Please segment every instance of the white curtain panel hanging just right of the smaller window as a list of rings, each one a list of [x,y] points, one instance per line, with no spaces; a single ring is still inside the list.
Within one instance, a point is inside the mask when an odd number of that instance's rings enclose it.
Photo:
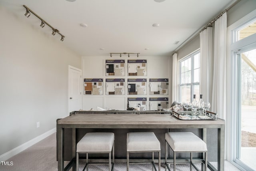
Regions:
[[[200,32],[200,94],[203,95],[203,100],[205,102],[210,102],[211,95],[212,47],[212,27],[208,27]]]

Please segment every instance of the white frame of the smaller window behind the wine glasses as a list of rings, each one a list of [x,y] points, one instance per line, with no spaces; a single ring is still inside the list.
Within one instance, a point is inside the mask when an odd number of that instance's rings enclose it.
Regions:
[[[187,86],[190,85],[190,101],[192,101],[193,99],[193,94],[194,94],[194,86],[200,84],[200,72],[199,72],[199,82],[194,82],[194,56],[196,56],[197,54],[199,54],[199,69],[200,69],[200,49],[197,49],[196,51],[192,52],[191,54],[185,56],[184,58],[179,60],[179,100],[181,101],[181,97],[182,97],[182,86]],[[182,62],[188,60],[189,58],[191,58],[191,79],[190,79],[190,83],[181,83],[181,78],[182,78]],[[198,68],[196,68],[198,69]],[[198,98],[198,97],[197,97]]]

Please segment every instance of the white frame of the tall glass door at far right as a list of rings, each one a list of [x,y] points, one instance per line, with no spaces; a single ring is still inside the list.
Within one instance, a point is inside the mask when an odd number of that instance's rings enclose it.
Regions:
[[[227,54],[226,54],[226,86],[230,87],[226,92],[226,160],[238,167],[240,170],[245,169],[245,165],[236,159],[237,152],[237,129],[238,129],[238,115],[239,112],[238,104],[239,99],[237,98],[238,93],[238,61],[237,54],[242,53],[243,50],[254,46],[256,40],[256,34],[248,36],[239,41],[236,40],[236,31],[240,26],[255,20],[256,10],[250,12],[234,24],[227,28]],[[244,167],[244,168],[243,168]]]

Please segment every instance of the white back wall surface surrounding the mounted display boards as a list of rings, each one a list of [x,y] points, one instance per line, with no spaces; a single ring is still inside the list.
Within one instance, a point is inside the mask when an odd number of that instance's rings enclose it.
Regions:
[[[105,76],[105,60],[125,60],[125,76]],[[127,76],[127,60],[147,60],[147,76]],[[169,85],[171,81],[170,57],[156,57],[156,56],[130,56],[122,55],[120,58],[118,55],[110,58],[110,56],[94,56],[94,57],[82,57],[82,74],[84,78],[103,78],[103,95],[83,95],[82,109],[89,110],[91,108],[96,109],[102,107],[104,109],[118,109],[126,110],[127,97],[147,97],[147,109],[149,110],[149,97],[171,97],[169,86],[169,95],[149,95],[149,78],[169,78]],[[125,95],[106,95],[105,92],[105,79],[106,78],[125,78]],[[147,95],[127,95],[127,78],[147,78]],[[171,103],[169,101],[169,103]]]

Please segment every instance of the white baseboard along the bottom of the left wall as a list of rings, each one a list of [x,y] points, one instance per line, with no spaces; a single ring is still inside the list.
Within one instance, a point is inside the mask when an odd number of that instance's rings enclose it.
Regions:
[[[0,155],[0,161],[6,161],[8,159],[10,159],[11,157],[13,157],[14,155],[20,153],[21,151],[27,149],[28,147],[34,145],[35,143],[38,143],[39,141],[41,141],[42,139],[52,135],[53,133],[56,132],[56,127],[54,129],[51,129],[50,131],[47,131],[45,133],[43,133],[42,135],[39,135],[37,137],[35,137],[34,139],[31,139],[30,141]]]

